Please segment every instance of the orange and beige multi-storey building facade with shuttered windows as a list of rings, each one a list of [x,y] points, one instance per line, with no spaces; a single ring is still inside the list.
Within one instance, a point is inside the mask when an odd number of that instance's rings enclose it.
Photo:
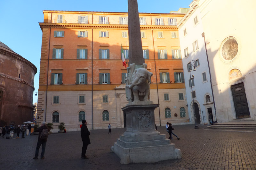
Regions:
[[[37,116],[69,131],[126,126],[121,110],[128,63],[128,13],[43,11]],[[184,14],[139,13],[143,57],[153,73],[150,99],[159,103],[156,125],[188,124],[177,23]],[[127,64],[128,66],[128,64]]]

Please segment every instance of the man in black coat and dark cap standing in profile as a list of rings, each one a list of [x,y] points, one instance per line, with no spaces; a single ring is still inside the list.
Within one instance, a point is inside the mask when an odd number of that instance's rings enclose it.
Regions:
[[[89,135],[91,134],[90,130],[87,128],[87,122],[86,120],[82,120],[82,127],[81,127],[81,137],[83,141],[83,147],[82,147],[82,159],[89,159],[87,156],[85,156],[87,146],[88,144],[91,144]]]

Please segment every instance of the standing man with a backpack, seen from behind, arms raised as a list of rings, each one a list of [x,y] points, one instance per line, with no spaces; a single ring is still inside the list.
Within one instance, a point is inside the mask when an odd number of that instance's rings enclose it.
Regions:
[[[38,159],[39,148],[41,145],[42,145],[41,159],[44,159],[45,146],[48,138],[48,132],[50,131],[50,129],[47,128],[46,124],[47,124],[46,122],[43,122],[42,125],[35,131],[35,132],[39,132],[39,135],[38,135],[38,141],[36,144],[36,154],[33,159]]]

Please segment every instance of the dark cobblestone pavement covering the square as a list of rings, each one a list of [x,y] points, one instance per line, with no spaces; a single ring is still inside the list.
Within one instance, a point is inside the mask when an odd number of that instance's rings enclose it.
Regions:
[[[80,131],[49,135],[45,159],[32,159],[35,155],[37,135],[19,139],[0,137],[0,170],[7,169],[132,169],[132,170],[235,170],[256,169],[256,133],[204,130],[207,125],[173,126],[175,137],[171,142],[182,152],[182,159],[164,160],[157,163],[120,164],[115,153],[110,152],[120,134],[126,129],[91,130],[91,144],[81,159],[82,140]],[[157,127],[166,134],[165,126]],[[20,135],[21,136],[21,135]],[[39,155],[41,154],[41,148]]]

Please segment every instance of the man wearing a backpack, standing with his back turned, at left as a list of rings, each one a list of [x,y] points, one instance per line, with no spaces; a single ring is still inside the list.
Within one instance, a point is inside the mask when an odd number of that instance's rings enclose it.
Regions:
[[[33,159],[38,159],[39,148],[41,145],[42,145],[41,159],[44,159],[44,151],[45,151],[45,146],[46,146],[48,137],[46,139],[41,139],[41,133],[42,133],[43,129],[47,129],[48,132],[50,131],[50,129],[47,128],[46,124],[47,124],[46,122],[43,122],[42,125],[36,131],[34,131],[34,132],[39,132],[39,135],[38,135],[38,141],[36,144],[36,154]]]

